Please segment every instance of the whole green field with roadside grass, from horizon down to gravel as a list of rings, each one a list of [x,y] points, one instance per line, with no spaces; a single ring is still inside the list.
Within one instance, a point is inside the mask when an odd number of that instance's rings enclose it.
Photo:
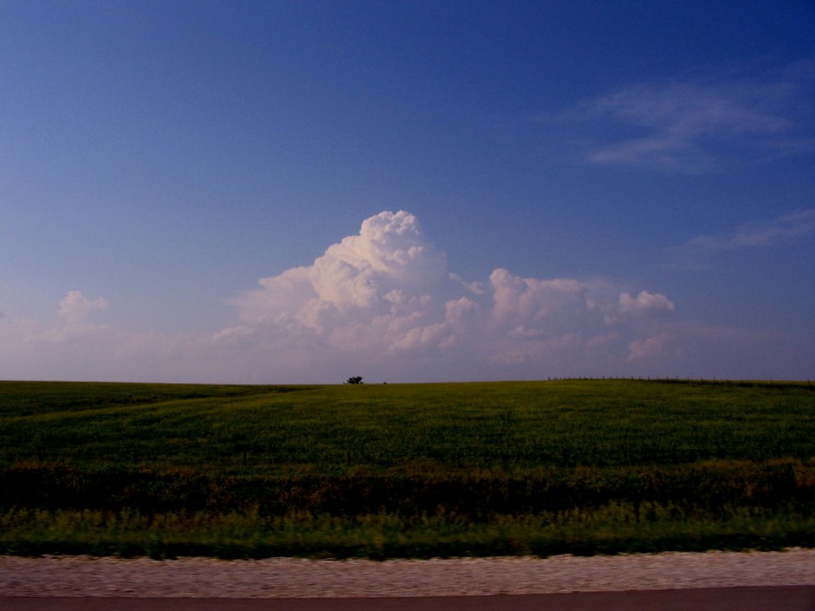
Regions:
[[[0,554],[815,546],[815,386],[0,382]]]

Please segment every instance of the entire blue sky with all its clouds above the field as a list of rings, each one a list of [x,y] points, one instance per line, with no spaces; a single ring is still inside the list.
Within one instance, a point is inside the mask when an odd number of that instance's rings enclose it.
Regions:
[[[0,378],[815,378],[813,28],[0,3]]]

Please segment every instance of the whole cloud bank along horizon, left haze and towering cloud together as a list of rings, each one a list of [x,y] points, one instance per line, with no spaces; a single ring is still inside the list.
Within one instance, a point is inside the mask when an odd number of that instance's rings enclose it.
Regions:
[[[689,374],[689,352],[702,346],[715,358],[715,344],[724,341],[736,354],[745,341],[762,340],[682,323],[670,297],[611,280],[541,280],[504,269],[464,280],[406,211],[366,219],[359,235],[329,246],[311,265],[260,280],[232,304],[237,320],[219,331],[131,332],[92,323],[108,301],[72,290],[55,323],[0,321],[0,377],[338,383],[357,374],[371,382],[659,376]]]

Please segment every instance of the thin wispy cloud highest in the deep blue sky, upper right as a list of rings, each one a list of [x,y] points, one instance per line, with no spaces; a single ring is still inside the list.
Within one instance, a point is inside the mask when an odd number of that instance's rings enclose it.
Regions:
[[[729,159],[815,151],[798,119],[813,104],[811,70],[751,79],[642,82],[583,102],[568,121],[599,133],[581,159],[594,165],[674,173],[707,172]]]

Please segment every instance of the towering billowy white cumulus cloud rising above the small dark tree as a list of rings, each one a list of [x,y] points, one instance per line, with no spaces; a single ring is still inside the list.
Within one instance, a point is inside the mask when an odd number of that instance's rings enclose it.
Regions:
[[[330,246],[308,267],[283,271],[233,300],[239,323],[216,336],[234,348],[287,350],[300,362],[359,363],[386,371],[428,368],[427,378],[487,377],[490,367],[629,360],[647,342],[658,357],[670,341],[656,329],[672,301],[637,297],[607,281],[521,278],[498,269],[465,282],[429,242],[415,216],[384,211],[360,234]],[[304,357],[308,355],[308,357]],[[442,369],[439,369],[441,367]],[[507,368],[502,375],[512,375]],[[416,374],[414,374],[415,376]]]

